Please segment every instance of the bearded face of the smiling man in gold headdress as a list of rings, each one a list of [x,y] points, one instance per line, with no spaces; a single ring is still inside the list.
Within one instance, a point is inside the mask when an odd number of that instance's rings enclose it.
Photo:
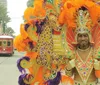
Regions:
[[[89,46],[89,36],[87,33],[79,33],[77,35],[77,42],[79,47],[86,48]]]

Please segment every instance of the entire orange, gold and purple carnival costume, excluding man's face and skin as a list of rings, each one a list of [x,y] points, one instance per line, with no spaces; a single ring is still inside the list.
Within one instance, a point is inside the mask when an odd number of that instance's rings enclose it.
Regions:
[[[33,7],[24,12],[24,20],[20,35],[14,40],[17,50],[26,52],[17,61],[21,72],[19,85],[95,85],[95,82],[88,82],[88,78],[95,69],[100,79],[98,3],[92,0],[34,0]],[[92,45],[86,62],[75,50],[77,35],[81,32],[89,35]],[[77,69],[82,82],[74,81],[72,70],[67,69],[68,62]]]

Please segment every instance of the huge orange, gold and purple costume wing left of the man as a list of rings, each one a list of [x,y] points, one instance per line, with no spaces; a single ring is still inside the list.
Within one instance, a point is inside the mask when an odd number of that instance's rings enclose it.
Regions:
[[[24,11],[20,35],[14,40],[26,54],[17,61],[19,85],[58,85],[67,64],[66,27],[58,23],[61,0],[33,0]],[[69,58],[72,52],[68,51]],[[27,72],[28,70],[28,72]]]

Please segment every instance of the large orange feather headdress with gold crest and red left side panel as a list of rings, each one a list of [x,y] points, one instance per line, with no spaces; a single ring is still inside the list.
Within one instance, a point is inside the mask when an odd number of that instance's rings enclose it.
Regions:
[[[92,33],[100,16],[100,6],[90,0],[68,0],[59,16],[60,24],[67,24],[66,40],[73,49],[72,42],[78,32]],[[69,16],[70,15],[70,16]],[[94,28],[95,29],[95,28]],[[74,31],[73,31],[74,30]]]

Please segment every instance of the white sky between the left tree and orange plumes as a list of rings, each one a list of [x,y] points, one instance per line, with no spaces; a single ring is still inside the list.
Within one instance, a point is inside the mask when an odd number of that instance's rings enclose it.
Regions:
[[[20,34],[20,24],[23,23],[22,16],[27,8],[27,1],[7,0],[8,16],[11,18],[7,26],[15,31],[15,35]]]

